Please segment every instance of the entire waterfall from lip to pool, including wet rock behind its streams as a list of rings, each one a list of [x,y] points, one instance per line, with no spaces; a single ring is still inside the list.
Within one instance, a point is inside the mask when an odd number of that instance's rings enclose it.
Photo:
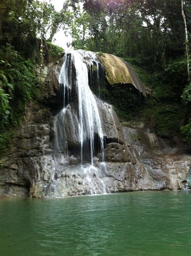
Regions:
[[[98,107],[98,104],[106,103],[97,99],[89,87],[92,78],[94,81],[97,79],[96,84],[100,87],[103,70],[93,52],[65,52],[59,75],[62,109],[54,119],[54,168],[50,181],[50,188],[56,196],[63,197],[67,190],[71,193],[73,189],[81,194],[111,191],[104,163],[105,124]],[[106,109],[109,113],[108,107]],[[74,178],[78,180],[77,183],[73,181]]]

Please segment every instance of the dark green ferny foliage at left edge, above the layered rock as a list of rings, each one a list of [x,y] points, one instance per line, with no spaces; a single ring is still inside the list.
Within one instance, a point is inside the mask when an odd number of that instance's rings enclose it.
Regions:
[[[9,44],[0,50],[0,154],[5,153],[9,130],[19,124],[25,105],[37,99],[39,83],[35,63],[25,60]],[[11,84],[10,84],[11,83]],[[13,90],[14,89],[14,90]]]

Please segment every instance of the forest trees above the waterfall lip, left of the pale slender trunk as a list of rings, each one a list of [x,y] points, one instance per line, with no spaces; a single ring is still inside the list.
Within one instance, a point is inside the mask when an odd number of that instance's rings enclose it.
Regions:
[[[82,2],[82,1],[80,1]],[[73,46],[120,57],[139,58],[156,70],[184,53],[184,23],[181,1],[172,0],[85,0],[83,12],[75,6],[71,26]],[[79,3],[79,1],[78,1]],[[189,1],[184,1],[189,23]]]

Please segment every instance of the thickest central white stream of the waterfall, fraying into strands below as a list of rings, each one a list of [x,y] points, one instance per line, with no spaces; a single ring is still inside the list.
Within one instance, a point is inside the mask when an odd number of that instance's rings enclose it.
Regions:
[[[79,52],[73,52],[72,61],[76,69],[76,86],[79,99],[79,138],[81,145],[81,163],[83,162],[83,141],[88,137],[90,141],[91,165],[93,165],[94,134],[98,134],[104,160],[104,134],[102,123],[96,104],[96,99],[88,84],[87,66],[83,63]]]

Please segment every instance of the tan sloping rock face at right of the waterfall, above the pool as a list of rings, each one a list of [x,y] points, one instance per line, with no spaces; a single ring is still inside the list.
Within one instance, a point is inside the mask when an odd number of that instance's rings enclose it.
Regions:
[[[155,134],[141,129],[123,127],[129,150],[137,158],[139,189],[186,189],[191,155],[187,149],[170,147]],[[140,172],[141,170],[141,172]]]

